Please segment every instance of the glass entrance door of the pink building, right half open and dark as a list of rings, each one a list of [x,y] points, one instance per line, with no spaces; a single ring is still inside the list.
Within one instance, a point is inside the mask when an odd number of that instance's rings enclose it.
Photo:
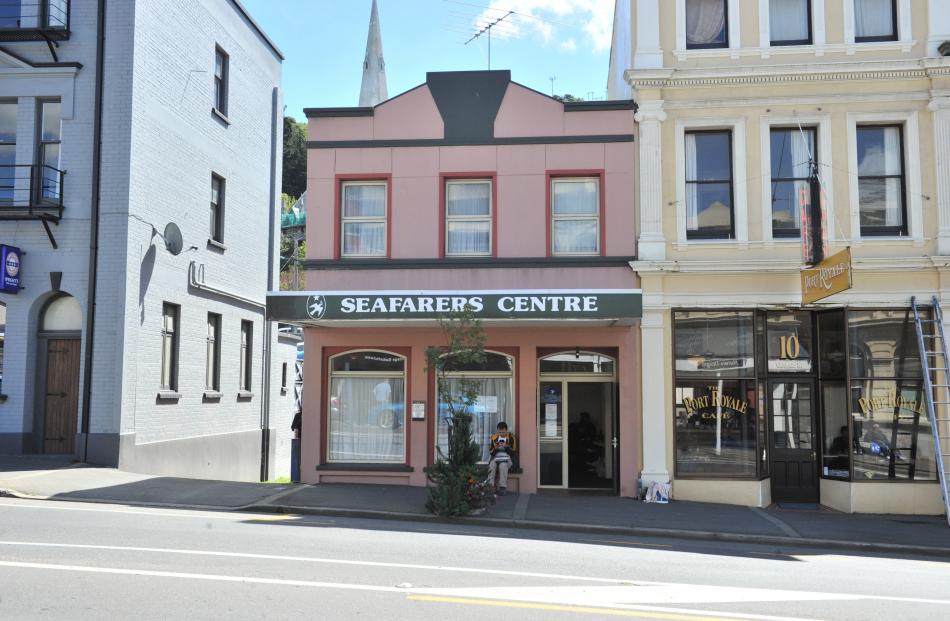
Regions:
[[[544,378],[538,401],[539,487],[616,491],[616,383]]]

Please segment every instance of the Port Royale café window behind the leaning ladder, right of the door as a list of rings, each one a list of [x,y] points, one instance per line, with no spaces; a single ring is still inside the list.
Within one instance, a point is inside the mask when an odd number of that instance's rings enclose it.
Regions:
[[[934,480],[936,456],[912,313],[853,311],[848,329],[854,480]]]

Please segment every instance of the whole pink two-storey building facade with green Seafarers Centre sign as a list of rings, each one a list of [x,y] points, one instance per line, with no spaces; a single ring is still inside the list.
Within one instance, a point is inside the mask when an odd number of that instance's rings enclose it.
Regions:
[[[475,440],[509,489],[634,495],[642,467],[632,101],[562,103],[507,71],[430,73],[374,108],[308,109],[301,478],[425,485],[447,442],[438,317],[488,336]]]

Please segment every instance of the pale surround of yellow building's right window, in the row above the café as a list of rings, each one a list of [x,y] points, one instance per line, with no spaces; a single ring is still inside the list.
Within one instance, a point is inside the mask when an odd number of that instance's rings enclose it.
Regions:
[[[875,123],[899,123],[904,126],[904,175],[907,180],[907,236],[906,237],[861,237],[861,211],[858,195],[858,139],[857,126]],[[848,113],[848,195],[851,209],[851,243],[913,242],[924,243],[923,204],[920,180],[920,126],[916,110],[890,112]]]

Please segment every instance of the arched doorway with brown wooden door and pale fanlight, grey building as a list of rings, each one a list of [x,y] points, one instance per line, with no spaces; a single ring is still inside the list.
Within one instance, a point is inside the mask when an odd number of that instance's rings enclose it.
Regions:
[[[76,449],[82,308],[61,294],[40,313],[36,451],[71,454]]]

